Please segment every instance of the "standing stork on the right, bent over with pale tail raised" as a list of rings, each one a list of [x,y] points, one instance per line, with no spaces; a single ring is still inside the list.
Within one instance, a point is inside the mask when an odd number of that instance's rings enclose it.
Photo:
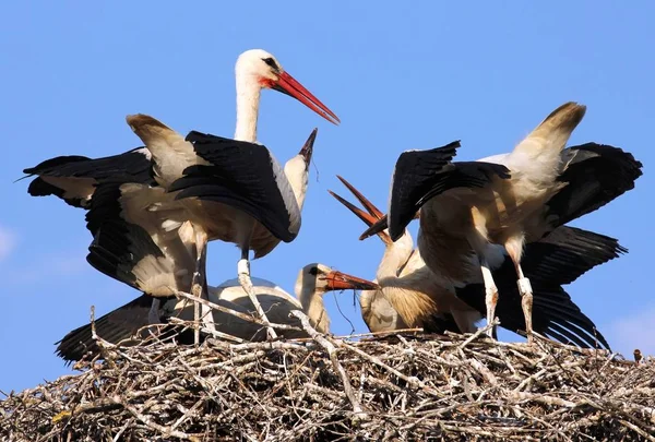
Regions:
[[[528,339],[532,289],[521,266],[525,242],[607,204],[634,187],[641,163],[620,148],[588,143],[564,150],[585,107],[567,103],[546,118],[511,154],[477,162],[504,165],[511,179],[479,189],[453,189],[452,176],[472,163],[452,163],[456,145],[401,155],[393,175],[389,208],[392,239],[420,210],[419,250],[436,273],[462,280],[480,265],[487,320],[493,319],[498,289],[490,268],[492,243],[502,244],[515,266]],[[474,162],[476,163],[476,162]],[[385,228],[386,218],[362,238]]]

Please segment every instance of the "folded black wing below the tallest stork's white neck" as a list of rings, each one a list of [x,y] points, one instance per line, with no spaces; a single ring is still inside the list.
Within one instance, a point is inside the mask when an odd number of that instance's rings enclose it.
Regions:
[[[176,199],[198,198],[230,205],[260,222],[277,239],[289,242],[296,238],[298,231],[294,231],[279,187],[286,176],[281,168],[276,174],[274,158],[265,146],[195,131],[187,135],[187,141],[212,165],[187,168],[184,177],[169,188],[179,191]],[[293,205],[299,214],[295,200]]]

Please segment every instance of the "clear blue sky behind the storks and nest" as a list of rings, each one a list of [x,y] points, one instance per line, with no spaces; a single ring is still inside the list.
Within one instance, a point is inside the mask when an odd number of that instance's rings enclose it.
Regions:
[[[623,147],[643,162],[644,176],[574,223],[619,238],[630,252],[567,289],[615,350],[655,354],[654,17],[646,1],[2,3],[0,390],[70,372],[53,344],[88,322],[92,304],[99,316],[139,295],[86,263],[84,213],[31,198],[29,181],[13,182],[22,169],[141,145],[124,123],[129,114],[151,114],[181,133],[231,136],[234,63],[251,48],[275,55],[342,120],[332,126],[263,93],[259,140],[279,160],[314,127],[319,134],[300,235],[254,261],[253,276],[290,291],[305,264],[321,262],[373,278],[382,242],[358,241],[364,224],[326,192],[350,198],[336,174],[384,208],[401,152],[453,140],[463,143],[458,159],[509,152],[576,100],[587,112],[570,144]],[[211,244],[210,283],[235,277],[238,258],[231,244]],[[366,331],[352,291],[326,301],[334,333]]]

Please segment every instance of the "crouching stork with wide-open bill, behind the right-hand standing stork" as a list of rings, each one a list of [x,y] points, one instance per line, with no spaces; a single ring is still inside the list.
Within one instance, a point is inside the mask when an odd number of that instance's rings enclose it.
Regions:
[[[340,177],[355,194],[368,213],[343,198],[333,195],[355,215],[371,226],[382,214],[352,184]],[[417,249],[412,250],[410,234],[405,230],[391,241],[386,230],[378,232],[386,244],[379,270],[388,267],[382,277],[378,274],[380,289],[362,291],[360,303],[362,316],[371,331],[389,331],[404,327],[422,327],[427,332],[444,330],[466,333],[475,330],[475,323],[486,314],[484,285],[480,271],[468,275],[465,282],[453,285],[448,278],[428,270]],[[394,246],[400,246],[394,251]],[[521,321],[521,296],[514,284],[515,273],[511,259],[502,247],[495,246],[499,264],[492,274],[502,288],[498,318],[501,326],[517,333],[525,328]],[[570,284],[588,270],[624,252],[618,241],[591,231],[559,227],[547,238],[526,246],[525,272],[535,280],[535,331],[564,343],[580,346],[608,347],[594,323],[580,311],[561,285]],[[400,252],[400,253],[398,253]],[[400,256],[394,258],[393,254]],[[406,320],[404,320],[404,318]]]

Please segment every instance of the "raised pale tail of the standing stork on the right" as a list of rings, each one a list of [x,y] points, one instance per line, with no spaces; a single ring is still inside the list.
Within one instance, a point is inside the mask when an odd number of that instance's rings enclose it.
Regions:
[[[586,106],[569,101],[555,109],[516,147],[514,153],[537,156],[543,151],[561,152],[584,118]]]

